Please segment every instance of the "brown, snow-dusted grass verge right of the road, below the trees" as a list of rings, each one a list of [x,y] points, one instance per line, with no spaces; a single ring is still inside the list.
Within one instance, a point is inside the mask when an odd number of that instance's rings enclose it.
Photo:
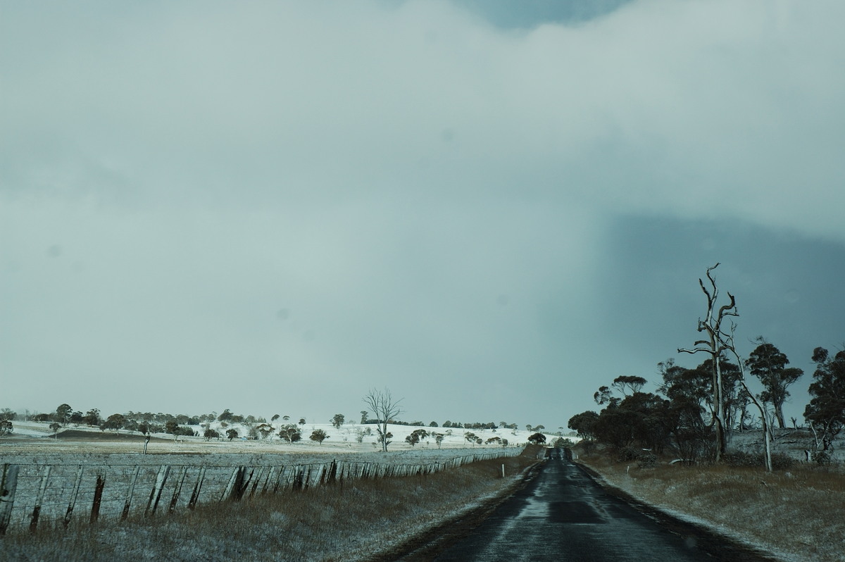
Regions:
[[[610,485],[676,516],[701,522],[781,559],[845,560],[845,472],[795,463],[766,473],[724,465],[636,467],[607,453],[579,462]]]

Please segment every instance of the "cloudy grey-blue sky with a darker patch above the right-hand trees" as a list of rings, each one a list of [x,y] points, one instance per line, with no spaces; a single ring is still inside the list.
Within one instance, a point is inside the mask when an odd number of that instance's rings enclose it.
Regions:
[[[0,2],[0,407],[566,426],[845,342],[845,3]]]

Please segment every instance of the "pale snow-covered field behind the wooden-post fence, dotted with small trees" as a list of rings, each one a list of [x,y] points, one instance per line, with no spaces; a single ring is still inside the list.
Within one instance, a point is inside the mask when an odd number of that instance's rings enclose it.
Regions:
[[[212,428],[215,426],[223,429],[220,424],[212,423]],[[247,426],[233,424],[227,428],[248,433]],[[293,444],[278,436],[205,440],[195,436],[174,439],[172,435],[155,434],[144,455],[144,437],[137,432],[102,432],[99,428],[71,426],[60,429],[55,436],[48,423],[15,422],[14,434],[0,439],[0,463],[16,465],[19,470],[12,523],[26,525],[27,517],[35,509],[35,497],[47,467],[50,472],[41,510],[44,520],[60,519],[73,501],[77,501],[83,511],[90,512],[92,501],[95,501],[95,487],[100,480],[105,481],[101,513],[113,518],[123,510],[127,499],[134,513],[144,510],[145,506],[149,509],[151,490],[164,470],[169,478],[161,493],[161,497],[166,498],[162,502],[172,501],[172,505],[181,509],[188,505],[194,487],[200,490],[199,503],[220,501],[227,485],[231,485],[237,467],[248,467],[254,493],[256,489],[295,487],[297,479],[300,482],[304,479],[306,486],[309,483],[317,485],[330,471],[331,463],[339,477],[354,480],[368,473],[383,473],[385,467],[400,467],[393,470],[402,474],[421,469],[439,470],[472,456],[516,456],[530,435],[527,431],[510,429],[426,428],[444,434],[440,446],[431,437],[410,445],[405,441],[406,435],[420,427],[390,425],[394,442],[384,453],[376,442],[372,425],[350,424],[335,428],[330,424],[306,424],[302,429],[303,440]],[[308,439],[316,429],[330,435],[322,445]],[[482,441],[500,436],[510,439],[506,447],[492,442],[479,445],[466,439],[470,434]],[[554,438],[549,436],[548,439]],[[77,479],[79,497],[73,492]]]

